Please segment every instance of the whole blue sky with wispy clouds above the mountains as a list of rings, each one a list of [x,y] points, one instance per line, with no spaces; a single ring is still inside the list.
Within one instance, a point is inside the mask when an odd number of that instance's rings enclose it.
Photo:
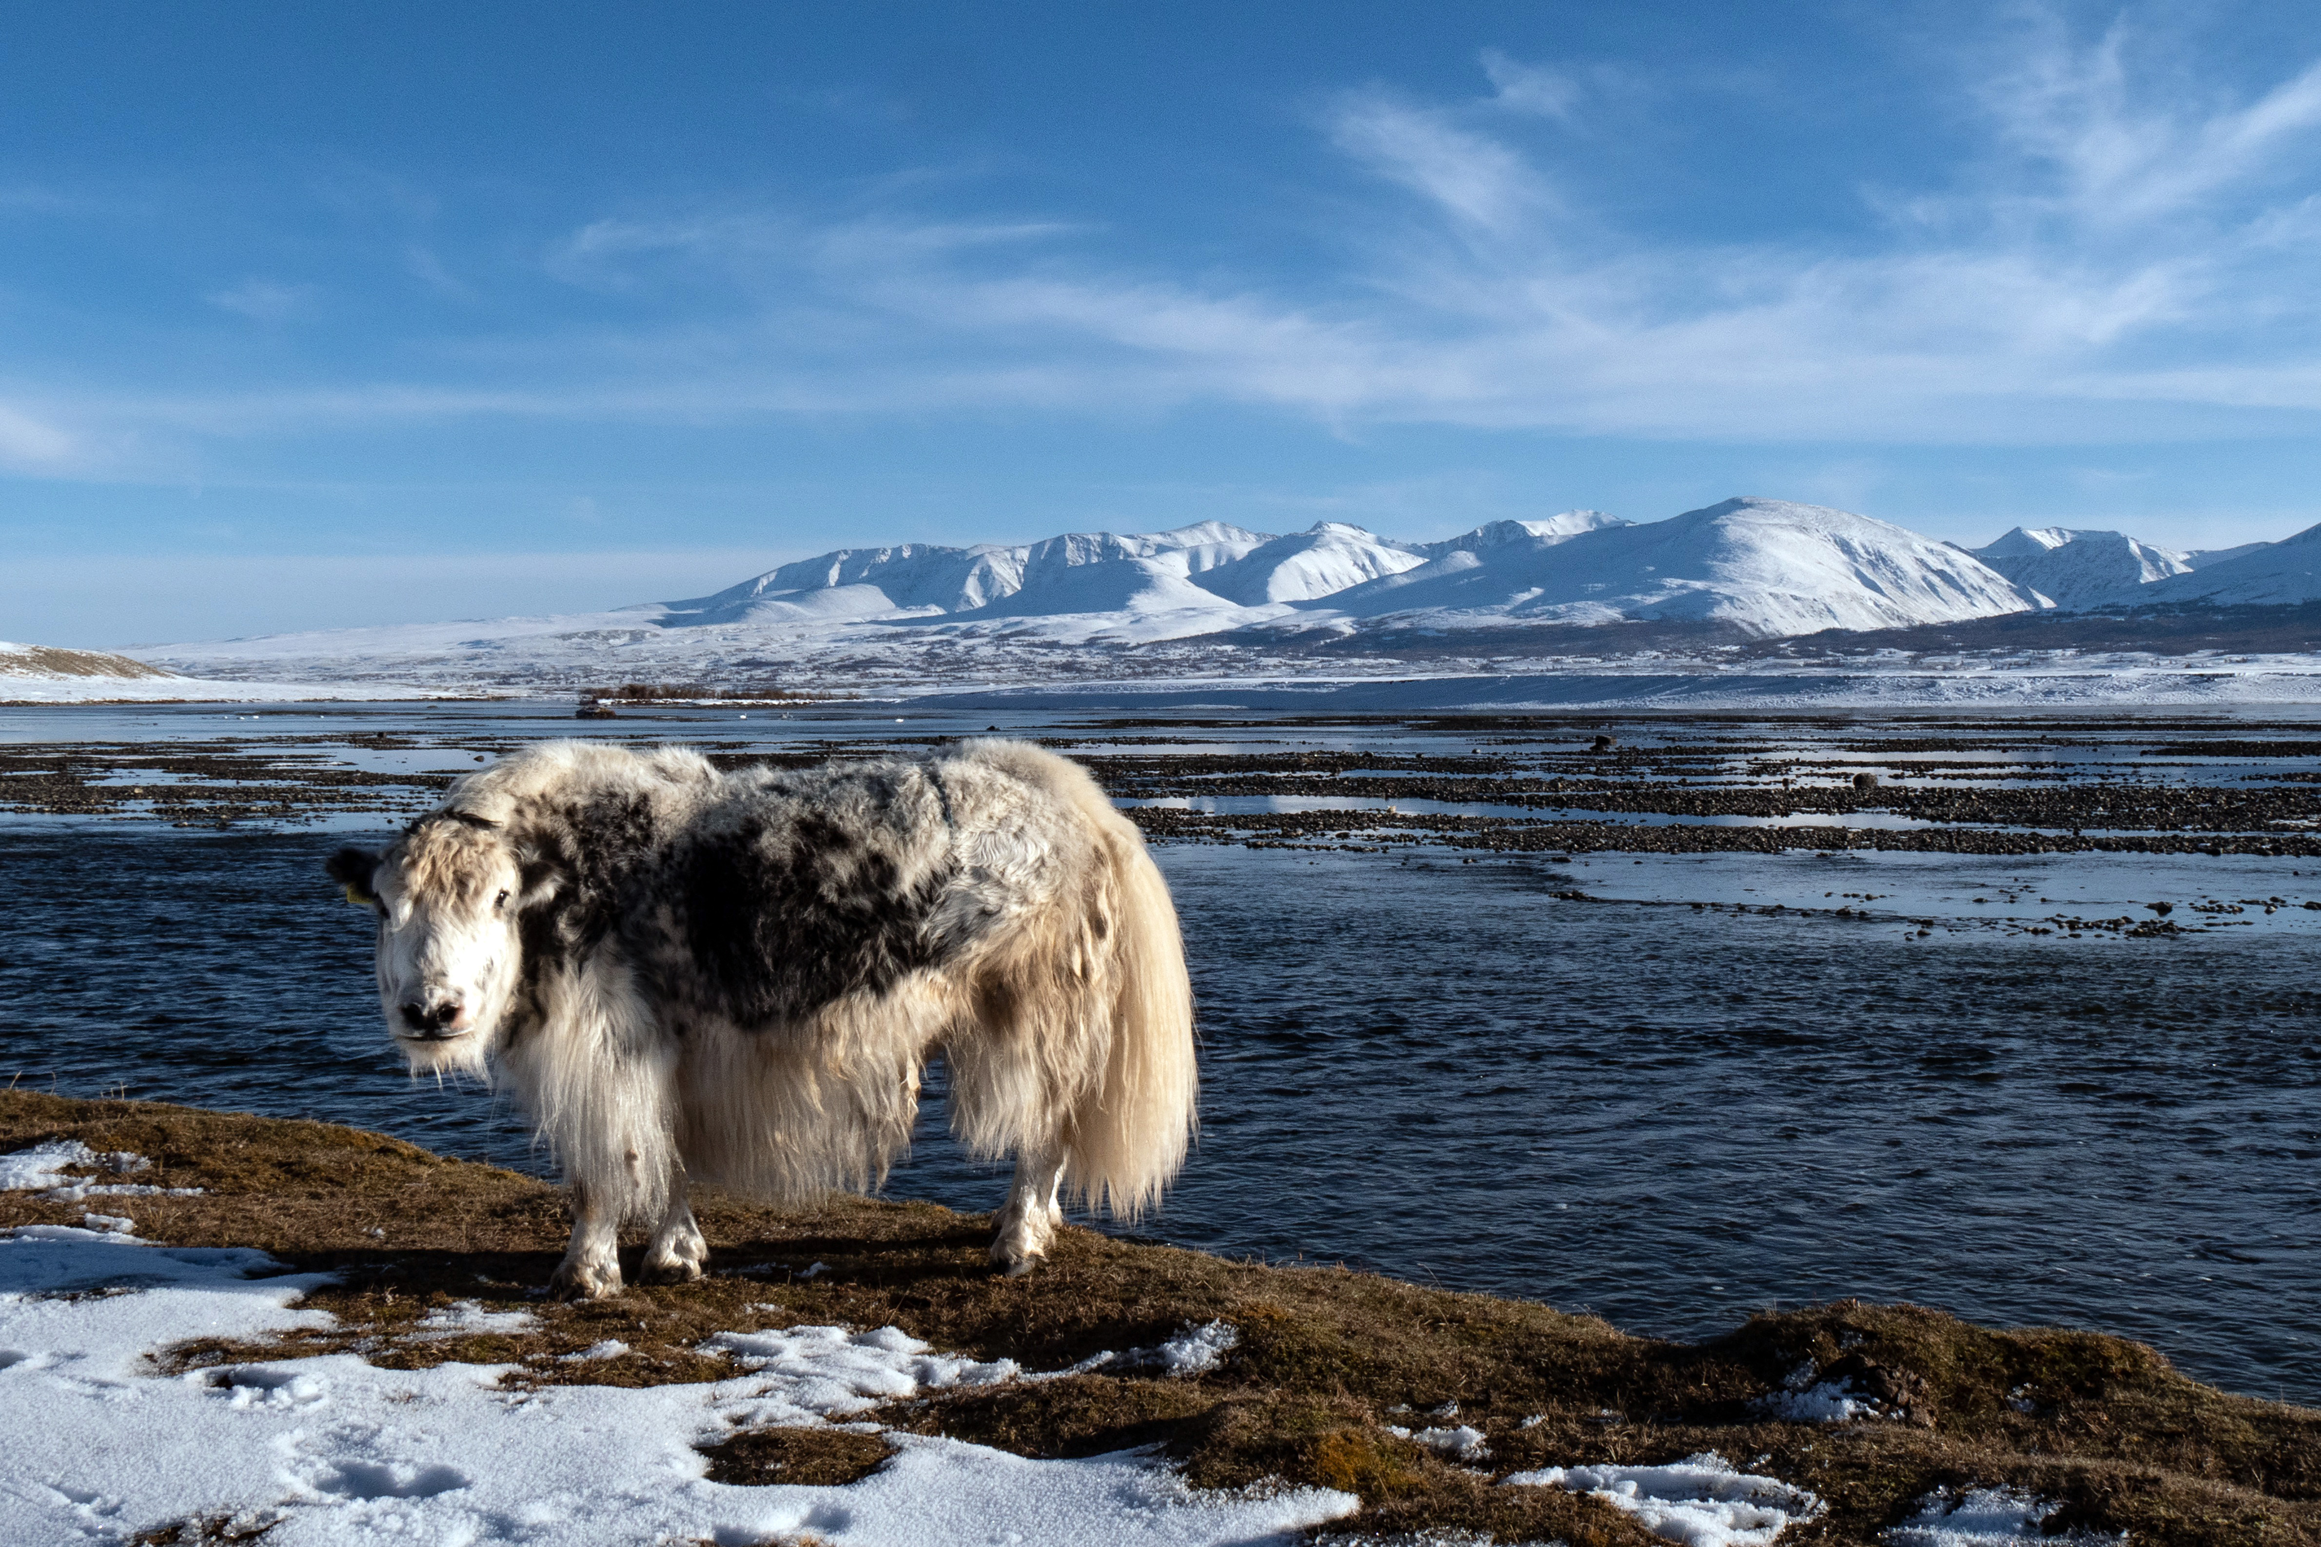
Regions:
[[[16,7],[0,635],[1727,494],[2321,520],[2309,5]]]

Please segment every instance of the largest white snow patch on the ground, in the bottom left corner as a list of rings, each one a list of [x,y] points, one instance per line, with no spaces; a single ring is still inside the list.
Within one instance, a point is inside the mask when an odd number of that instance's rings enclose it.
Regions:
[[[19,1174],[70,1164],[9,1160]],[[297,1306],[327,1278],[279,1266],[65,1225],[0,1234],[0,1540],[125,1542],[223,1517],[274,1521],[269,1547],[798,1533],[833,1547],[1223,1547],[1358,1508],[1325,1489],[1198,1496],[1142,1454],[1026,1461],[919,1436],[887,1436],[889,1464],[845,1487],[703,1477],[694,1447],[736,1429],[843,1419],[1014,1368],[935,1354],[896,1329],[724,1334],[710,1343],[754,1368],[715,1385],[527,1392],[501,1387],[511,1366],[383,1371],[357,1354],[153,1373],[151,1354],[188,1338],[330,1327]]]

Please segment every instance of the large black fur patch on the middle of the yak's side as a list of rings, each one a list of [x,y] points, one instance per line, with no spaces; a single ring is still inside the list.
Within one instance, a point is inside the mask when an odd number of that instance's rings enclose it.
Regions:
[[[678,928],[708,1009],[745,1027],[882,993],[938,963],[926,918],[954,865],[924,779],[863,770],[801,786],[752,793],[754,809],[687,835],[673,863]],[[905,865],[926,842],[942,842],[945,858],[910,884]]]

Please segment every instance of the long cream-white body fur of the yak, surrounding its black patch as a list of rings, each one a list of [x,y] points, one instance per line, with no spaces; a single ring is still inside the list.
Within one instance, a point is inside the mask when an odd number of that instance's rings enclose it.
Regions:
[[[938,1048],[952,1062],[952,1127],[977,1155],[1061,1160],[1070,1197],[1123,1218],[1151,1208],[1184,1164],[1193,990],[1177,909],[1135,823],[1079,765],[1026,742],[882,768],[921,791],[910,842],[959,847],[949,912],[928,925],[942,932],[940,965],[778,1025],[696,1016],[673,1027],[606,944],[562,963],[541,983],[538,1021],[492,1051],[566,1174],[615,1218],[657,1218],[687,1181],[782,1204],[875,1188],[910,1143],[919,1072]],[[462,779],[453,805],[476,830],[453,837],[483,849],[501,823],[576,791],[659,800],[673,821],[810,800],[773,779],[678,751],[548,745]]]

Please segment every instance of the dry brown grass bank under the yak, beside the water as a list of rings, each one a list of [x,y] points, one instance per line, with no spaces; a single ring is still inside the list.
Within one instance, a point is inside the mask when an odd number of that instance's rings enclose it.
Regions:
[[[91,1204],[132,1215],[149,1239],[255,1245],[341,1273],[311,1299],[337,1315],[334,1329],[265,1350],[188,1345],[172,1354],[181,1368],[353,1348],[402,1368],[513,1364],[511,1382],[657,1385],[729,1375],[726,1361],[696,1352],[713,1331],[805,1322],[896,1324],[938,1348],[1061,1368],[1223,1317],[1242,1345],[1200,1378],[1072,1375],[891,1403],[880,1419],[1033,1457],[1163,1445],[1200,1487],[1286,1477],[1360,1494],[1362,1512],[1325,1533],[1465,1528],[1634,1547],[1648,1538],[1604,1505],[1495,1480],[1718,1450],[1829,1501],[1822,1519],[1785,1538],[1796,1542],[1873,1542],[1938,1484],[2029,1487],[2063,1501],[2073,1524],[2138,1542],[2321,1542],[2321,1412],[2203,1387],[2149,1348],[2098,1334],[1991,1331],[1938,1310],[1841,1301],[1759,1315],[1708,1343],[1662,1343],[1527,1301],[1082,1229],[1063,1234],[1040,1273],[1010,1280],[986,1266],[986,1220],[866,1199],[775,1213],[708,1197],[710,1278],[555,1306],[529,1294],[566,1232],[562,1197],[538,1181],[320,1123],[0,1092],[0,1150],[51,1136],[142,1153],[156,1169],[139,1181],[207,1190]],[[0,1194],[0,1225],[70,1225],[81,1208],[12,1192]],[[796,1278],[815,1262],[826,1271]],[[536,1310],[541,1327],[408,1336],[455,1299]],[[606,1338],[631,1352],[557,1361]],[[1752,1417],[1750,1399],[1801,1359],[1887,1394],[1908,1417]],[[1458,1422],[1485,1431],[1485,1464],[1444,1461],[1388,1433],[1425,1426],[1413,1415],[1453,1401]],[[713,1466],[733,1480],[843,1480],[882,1450],[843,1431],[761,1431],[720,1445]]]

